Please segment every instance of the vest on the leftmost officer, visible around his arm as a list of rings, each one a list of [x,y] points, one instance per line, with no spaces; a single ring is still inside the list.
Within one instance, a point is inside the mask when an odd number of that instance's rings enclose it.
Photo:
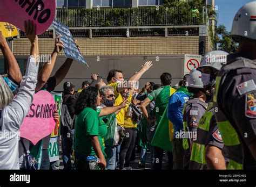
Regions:
[[[187,103],[185,103],[183,107],[183,116],[185,116],[185,112],[188,110],[191,110],[192,107],[199,107],[199,105],[203,106],[205,109],[207,109],[207,103],[201,102],[198,99],[190,99]],[[188,107],[188,109],[187,109]],[[183,120],[183,131],[186,132],[187,127],[187,121]],[[186,150],[189,148],[188,140],[186,138],[183,139],[183,148]]]

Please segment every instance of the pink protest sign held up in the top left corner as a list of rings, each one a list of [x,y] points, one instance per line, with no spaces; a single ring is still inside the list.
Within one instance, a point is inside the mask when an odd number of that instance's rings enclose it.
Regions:
[[[11,23],[24,31],[24,21],[30,19],[37,25],[36,34],[42,34],[51,26],[55,10],[55,0],[1,0],[0,21]]]

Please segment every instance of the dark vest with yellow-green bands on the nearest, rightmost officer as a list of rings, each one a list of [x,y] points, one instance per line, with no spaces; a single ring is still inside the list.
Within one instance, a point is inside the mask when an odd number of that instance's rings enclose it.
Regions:
[[[236,61],[227,64],[219,71],[219,74],[216,77],[216,92],[213,97],[215,106],[218,107],[217,99],[219,87],[223,87],[222,83],[224,83],[227,74],[231,70],[240,68],[256,69],[256,64],[254,63],[254,61],[244,59],[242,63],[241,61]],[[228,155],[226,156],[228,157],[228,159],[230,159],[227,169],[243,169],[244,149],[242,147],[243,145],[241,144],[238,132],[231,125],[230,121],[227,120],[227,117],[219,107],[218,112],[216,112],[216,117],[217,125],[223,138],[225,149],[227,150],[228,153]]]

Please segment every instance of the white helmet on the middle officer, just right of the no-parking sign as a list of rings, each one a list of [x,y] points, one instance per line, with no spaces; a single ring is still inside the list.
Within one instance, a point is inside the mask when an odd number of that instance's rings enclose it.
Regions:
[[[207,53],[200,62],[200,70],[202,67],[211,67],[220,70],[221,66],[227,62],[228,53],[225,51],[212,51]]]

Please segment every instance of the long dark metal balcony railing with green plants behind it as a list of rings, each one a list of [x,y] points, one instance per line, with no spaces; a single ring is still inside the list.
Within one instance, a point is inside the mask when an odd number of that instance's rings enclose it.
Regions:
[[[189,8],[144,7],[144,8],[101,8],[57,9],[57,20],[69,27],[100,26],[158,26],[158,25],[204,25],[203,8],[193,18]]]

